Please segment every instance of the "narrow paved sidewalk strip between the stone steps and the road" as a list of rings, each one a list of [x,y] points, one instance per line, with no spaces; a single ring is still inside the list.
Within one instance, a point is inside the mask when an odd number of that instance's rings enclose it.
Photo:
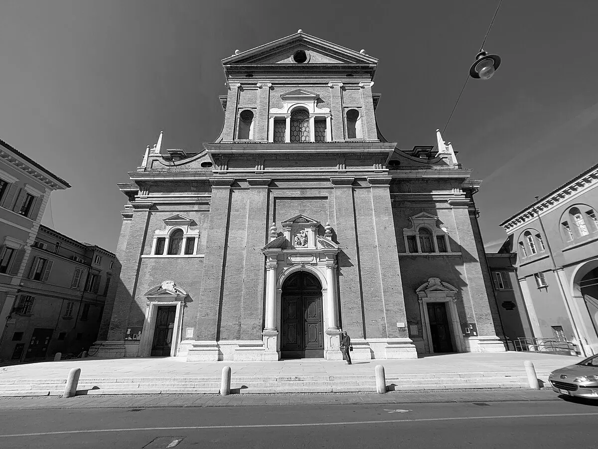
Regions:
[[[426,404],[440,402],[472,402],[483,406],[488,402],[560,401],[552,390],[461,390],[450,392],[389,392],[276,394],[276,395],[117,395],[57,396],[38,398],[0,398],[0,410],[51,408],[130,408],[132,412],[144,408],[166,407],[226,407],[277,405],[335,405],[335,404]]]

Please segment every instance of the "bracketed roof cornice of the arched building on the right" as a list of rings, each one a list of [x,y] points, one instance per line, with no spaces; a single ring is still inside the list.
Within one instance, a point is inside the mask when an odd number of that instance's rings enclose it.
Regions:
[[[544,215],[551,210],[560,207],[564,202],[571,201],[582,193],[594,189],[597,184],[598,165],[595,165],[584,174],[579,175],[565,185],[559,187],[559,189],[554,190],[544,198],[529,205],[505,222],[502,222],[501,226],[510,233],[518,229],[518,227],[524,226],[526,223],[535,220],[538,215]]]

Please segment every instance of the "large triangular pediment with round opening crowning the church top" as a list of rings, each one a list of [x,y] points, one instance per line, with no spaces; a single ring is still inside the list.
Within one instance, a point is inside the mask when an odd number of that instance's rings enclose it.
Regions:
[[[285,38],[240,51],[222,60],[224,65],[295,64],[295,51],[307,53],[303,64],[376,64],[378,60],[365,53],[341,47],[304,32],[297,32]]]

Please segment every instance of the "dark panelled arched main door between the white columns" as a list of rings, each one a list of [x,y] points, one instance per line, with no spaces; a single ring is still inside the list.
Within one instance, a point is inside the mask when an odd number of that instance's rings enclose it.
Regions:
[[[323,358],[322,285],[305,271],[292,274],[282,286],[280,357]]]

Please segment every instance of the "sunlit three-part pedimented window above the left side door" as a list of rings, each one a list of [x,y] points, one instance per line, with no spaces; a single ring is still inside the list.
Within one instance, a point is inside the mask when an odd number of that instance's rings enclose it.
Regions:
[[[184,257],[197,254],[199,229],[190,229],[193,220],[176,214],[164,220],[166,229],[154,232],[151,254],[148,257]]]

